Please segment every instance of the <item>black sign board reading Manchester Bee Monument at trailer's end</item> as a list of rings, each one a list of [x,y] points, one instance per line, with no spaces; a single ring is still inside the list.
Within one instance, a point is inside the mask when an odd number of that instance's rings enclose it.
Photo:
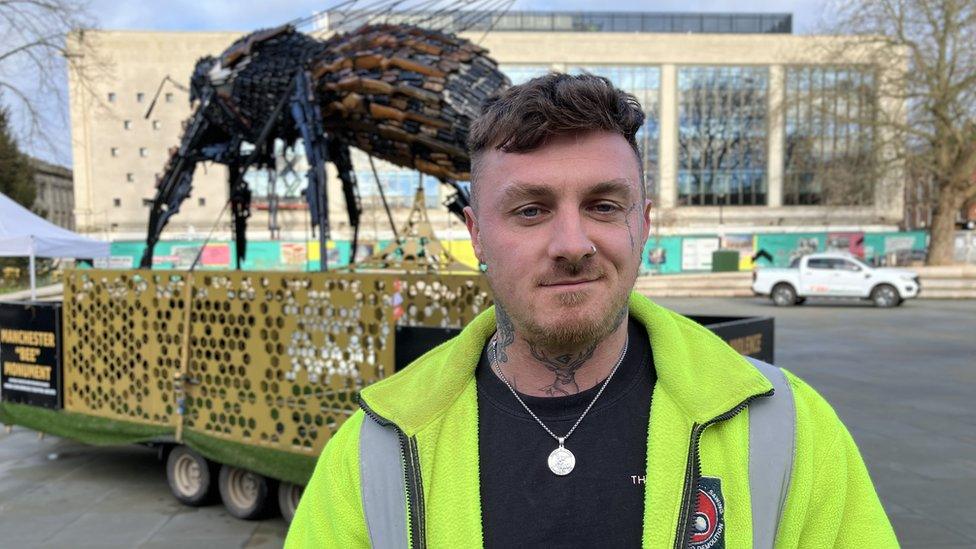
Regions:
[[[0,399],[61,408],[60,303],[0,303]]]

